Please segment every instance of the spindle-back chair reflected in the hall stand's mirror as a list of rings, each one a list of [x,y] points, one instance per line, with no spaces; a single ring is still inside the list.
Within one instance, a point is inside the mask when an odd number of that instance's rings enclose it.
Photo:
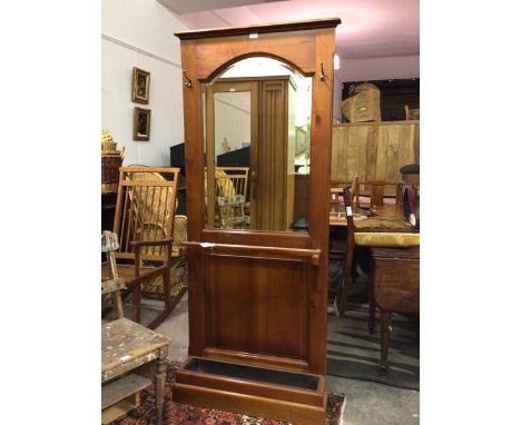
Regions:
[[[215,168],[216,211],[220,228],[244,229],[249,225],[249,217],[245,214],[248,171],[248,167]]]

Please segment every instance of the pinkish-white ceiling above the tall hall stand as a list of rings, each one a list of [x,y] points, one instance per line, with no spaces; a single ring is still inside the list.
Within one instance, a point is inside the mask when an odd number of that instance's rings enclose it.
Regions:
[[[420,55],[420,0],[158,0],[193,29],[341,18],[341,59]]]

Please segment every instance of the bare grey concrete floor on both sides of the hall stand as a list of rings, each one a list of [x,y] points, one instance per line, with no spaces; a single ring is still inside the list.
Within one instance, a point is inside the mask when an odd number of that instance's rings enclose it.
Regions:
[[[154,302],[144,300],[144,304]],[[147,319],[147,308],[142,309]],[[156,332],[171,338],[168,358],[183,362],[188,355],[188,296],[185,295]],[[372,382],[327,376],[331,392],[343,393],[344,425],[416,425],[420,423],[420,392]]]

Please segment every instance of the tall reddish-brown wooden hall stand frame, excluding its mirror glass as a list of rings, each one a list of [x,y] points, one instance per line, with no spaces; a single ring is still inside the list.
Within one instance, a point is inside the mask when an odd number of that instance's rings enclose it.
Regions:
[[[333,53],[338,23],[323,19],[177,34],[184,69],[191,357],[176,374],[175,401],[295,424],[325,423]],[[254,56],[276,58],[313,78],[308,231],[205,226],[201,95],[205,83],[227,67]]]

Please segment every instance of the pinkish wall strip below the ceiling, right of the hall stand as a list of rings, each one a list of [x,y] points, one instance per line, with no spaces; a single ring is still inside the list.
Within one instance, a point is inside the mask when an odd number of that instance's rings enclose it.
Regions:
[[[419,78],[420,56],[342,59],[341,69],[335,72],[342,82]]]

